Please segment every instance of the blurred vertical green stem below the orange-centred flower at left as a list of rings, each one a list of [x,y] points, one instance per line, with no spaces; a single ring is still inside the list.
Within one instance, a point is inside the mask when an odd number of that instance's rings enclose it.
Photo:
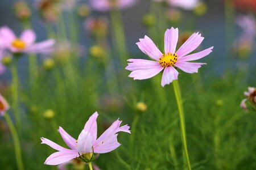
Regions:
[[[11,83],[11,97],[12,97],[12,107],[13,107],[13,112],[15,116],[15,122],[17,123],[17,126],[19,127],[20,125],[20,116],[19,116],[19,110],[18,110],[18,104],[19,104],[19,99],[18,99],[18,58],[14,57],[14,63],[11,66],[11,74],[13,77],[13,82]]]

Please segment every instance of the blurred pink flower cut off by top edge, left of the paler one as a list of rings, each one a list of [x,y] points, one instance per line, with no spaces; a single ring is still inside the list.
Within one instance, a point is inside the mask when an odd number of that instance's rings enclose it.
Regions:
[[[124,9],[135,5],[138,0],[90,0],[94,10],[109,11],[111,8]]]

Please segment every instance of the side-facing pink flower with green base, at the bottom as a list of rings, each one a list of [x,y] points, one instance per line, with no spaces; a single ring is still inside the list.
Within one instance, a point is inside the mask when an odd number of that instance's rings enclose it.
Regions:
[[[71,149],[61,147],[49,139],[41,138],[43,144],[57,150],[57,152],[46,159],[44,164],[59,165],[75,158],[78,158],[79,160],[82,159],[85,162],[91,162],[96,156],[94,154],[104,154],[119,147],[121,144],[117,141],[118,132],[124,131],[130,133],[130,127],[128,125],[120,127],[122,121],[116,120],[97,139],[97,117],[97,112],[90,116],[77,140],[71,137],[71,135],[69,135],[63,128],[59,128],[59,133],[63,138],[63,141]]]

